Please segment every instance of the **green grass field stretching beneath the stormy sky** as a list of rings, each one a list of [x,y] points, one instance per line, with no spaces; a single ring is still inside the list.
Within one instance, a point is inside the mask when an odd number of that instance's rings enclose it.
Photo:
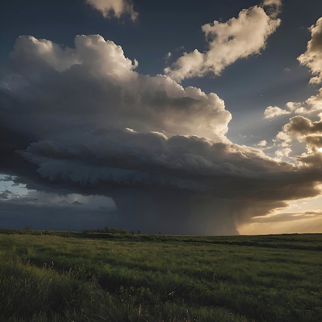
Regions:
[[[0,230],[1,321],[321,321],[322,235]]]

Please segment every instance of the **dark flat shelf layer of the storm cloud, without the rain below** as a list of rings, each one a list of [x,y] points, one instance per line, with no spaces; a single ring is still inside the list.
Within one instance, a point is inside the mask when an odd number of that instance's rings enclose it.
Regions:
[[[33,142],[20,154],[37,164],[37,172],[51,181],[71,181],[94,187],[130,184],[139,188],[216,191],[216,195],[225,198],[229,198],[229,191],[234,188],[218,187],[218,177],[234,176],[237,181],[245,182],[261,178],[264,188],[264,172],[270,172],[272,177],[294,168],[287,163],[276,163],[253,148],[196,136],[167,138],[158,133],[119,130],[94,131],[69,143],[62,140]],[[240,198],[250,197],[245,191],[236,193]]]

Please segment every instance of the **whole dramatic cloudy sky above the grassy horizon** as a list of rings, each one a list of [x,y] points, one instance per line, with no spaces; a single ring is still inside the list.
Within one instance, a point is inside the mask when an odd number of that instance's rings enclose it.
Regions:
[[[0,9],[0,227],[322,232],[320,1]]]

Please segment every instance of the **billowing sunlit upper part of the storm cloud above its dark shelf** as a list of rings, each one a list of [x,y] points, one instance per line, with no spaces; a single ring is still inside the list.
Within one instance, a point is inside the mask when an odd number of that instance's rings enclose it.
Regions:
[[[100,126],[228,141],[225,133],[231,115],[216,94],[183,88],[163,75],[138,75],[134,71],[137,62],[126,58],[121,46],[100,35],[78,35],[75,45],[62,48],[31,36],[18,38],[10,59],[19,71],[3,78],[2,86],[15,97],[28,99],[34,113],[38,109],[43,116],[57,117],[61,126],[65,123],[61,116],[74,110],[86,115],[88,123]],[[51,78],[60,81],[52,86]],[[69,117],[81,122],[73,114]],[[38,135],[48,132],[32,119],[25,127],[39,131]]]

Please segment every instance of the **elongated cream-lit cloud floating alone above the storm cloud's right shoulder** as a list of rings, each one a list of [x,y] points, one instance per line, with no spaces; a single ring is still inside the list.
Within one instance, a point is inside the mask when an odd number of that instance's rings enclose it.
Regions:
[[[266,1],[270,8],[278,1]],[[272,12],[276,13],[274,9]],[[198,49],[178,58],[165,73],[180,82],[185,78],[203,77],[205,75],[218,76],[228,65],[241,58],[259,54],[266,45],[267,38],[276,30],[280,19],[275,14],[266,14],[259,6],[243,9],[237,18],[227,22],[213,23],[202,26],[205,32],[208,50],[200,52]]]

